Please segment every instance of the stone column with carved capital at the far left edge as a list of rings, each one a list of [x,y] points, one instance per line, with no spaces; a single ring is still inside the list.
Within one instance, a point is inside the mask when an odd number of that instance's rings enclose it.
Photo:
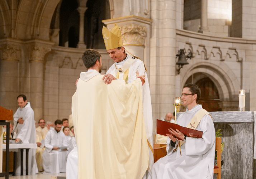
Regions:
[[[20,54],[19,43],[7,41],[0,44],[0,106],[14,112],[18,108]]]

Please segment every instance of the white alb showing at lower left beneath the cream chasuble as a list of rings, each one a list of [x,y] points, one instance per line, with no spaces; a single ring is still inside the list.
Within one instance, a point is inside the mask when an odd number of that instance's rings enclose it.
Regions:
[[[71,150],[71,152],[67,156],[67,179],[77,179],[77,165],[78,165],[78,154],[77,154],[77,146]]]

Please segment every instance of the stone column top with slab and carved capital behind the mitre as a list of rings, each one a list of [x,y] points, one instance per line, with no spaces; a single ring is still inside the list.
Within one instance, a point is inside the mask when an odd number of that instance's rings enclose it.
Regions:
[[[148,31],[150,32],[152,20],[132,15],[103,20],[103,23],[107,25],[108,29],[113,28],[114,23],[117,23],[121,30],[125,50],[139,57],[144,61],[146,66],[149,65],[148,59],[145,60],[146,58],[144,58],[144,54],[147,56],[147,52],[145,52],[146,50],[144,49],[146,46],[149,47],[149,44],[146,45],[146,43],[149,42],[150,39]]]

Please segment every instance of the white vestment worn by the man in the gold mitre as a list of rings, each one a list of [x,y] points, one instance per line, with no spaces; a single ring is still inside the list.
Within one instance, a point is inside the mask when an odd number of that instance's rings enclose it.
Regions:
[[[131,64],[131,61],[134,61]],[[117,73],[119,72],[119,78],[123,79],[124,73],[126,69],[129,68],[128,81],[133,81],[137,78],[136,72],[139,72],[139,75],[145,75],[145,83],[142,86],[142,103],[143,103],[143,116],[144,116],[144,124],[146,128],[147,140],[150,143],[148,146],[149,150],[149,168],[147,178],[151,178],[152,166],[154,164],[154,156],[153,156],[153,121],[152,121],[152,106],[151,106],[151,96],[150,96],[150,88],[148,83],[148,77],[146,73],[146,69],[144,63],[131,55],[127,54],[127,58],[119,63],[114,63],[106,72],[106,74],[112,74],[114,77],[117,77]],[[121,70],[121,72],[120,72]],[[124,79],[126,80],[126,79]],[[146,175],[145,175],[146,176]],[[146,178],[144,176],[144,178]]]

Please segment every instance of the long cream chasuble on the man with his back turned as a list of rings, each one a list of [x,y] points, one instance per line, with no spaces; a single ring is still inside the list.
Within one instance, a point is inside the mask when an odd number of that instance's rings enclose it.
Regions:
[[[149,160],[141,80],[105,84],[97,73],[81,72],[72,97],[78,179],[141,179]]]

